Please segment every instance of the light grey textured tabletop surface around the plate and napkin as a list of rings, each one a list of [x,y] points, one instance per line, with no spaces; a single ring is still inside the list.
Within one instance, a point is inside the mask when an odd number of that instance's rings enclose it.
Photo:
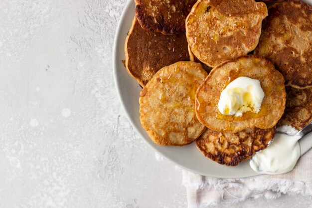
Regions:
[[[112,48],[126,1],[0,0],[0,208],[187,207],[181,170],[156,160],[118,101]]]

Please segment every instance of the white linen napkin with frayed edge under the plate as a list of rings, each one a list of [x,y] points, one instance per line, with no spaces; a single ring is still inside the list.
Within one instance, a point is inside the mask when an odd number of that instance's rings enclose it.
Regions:
[[[188,208],[231,204],[248,198],[276,199],[281,194],[312,196],[312,151],[303,155],[293,171],[243,179],[219,179],[183,170]]]

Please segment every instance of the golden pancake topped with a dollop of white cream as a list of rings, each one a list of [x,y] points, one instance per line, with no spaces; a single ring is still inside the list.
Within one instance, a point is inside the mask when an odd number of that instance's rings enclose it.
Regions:
[[[258,79],[264,91],[261,109],[241,117],[223,115],[217,104],[221,91],[240,76]],[[267,59],[246,55],[228,60],[211,70],[196,91],[195,112],[198,120],[213,131],[236,133],[247,128],[268,129],[282,117],[286,103],[283,75]]]

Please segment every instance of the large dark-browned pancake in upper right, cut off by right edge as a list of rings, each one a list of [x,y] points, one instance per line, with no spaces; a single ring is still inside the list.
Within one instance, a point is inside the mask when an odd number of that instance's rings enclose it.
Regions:
[[[285,0],[269,8],[255,54],[271,60],[295,88],[312,87],[312,7]]]

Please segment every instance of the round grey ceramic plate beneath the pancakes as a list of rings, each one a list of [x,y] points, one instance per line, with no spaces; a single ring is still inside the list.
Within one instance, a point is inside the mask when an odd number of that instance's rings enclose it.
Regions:
[[[312,0],[306,0],[312,4]],[[130,29],[135,15],[135,2],[130,0],[120,19],[114,42],[113,64],[114,78],[120,102],[126,112],[128,120],[141,137],[160,155],[174,162],[177,166],[204,175],[218,178],[243,178],[259,175],[249,166],[249,160],[236,167],[227,167],[217,164],[204,157],[197,150],[195,143],[182,147],[163,147],[156,145],[141,127],[139,113],[139,93],[141,87],[134,80],[124,67],[122,60],[125,60],[124,45],[127,32]],[[300,141],[302,154],[312,146],[312,134],[307,135]]]

